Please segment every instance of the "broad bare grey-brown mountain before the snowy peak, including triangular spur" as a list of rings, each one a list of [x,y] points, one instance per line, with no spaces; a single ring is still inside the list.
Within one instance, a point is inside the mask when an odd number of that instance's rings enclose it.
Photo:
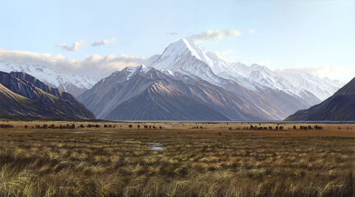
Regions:
[[[199,78],[172,74],[143,65],[126,67],[100,80],[92,89],[78,96],[78,101],[99,119],[153,120],[168,117],[184,120],[189,117],[213,121],[227,117],[224,119],[260,121],[287,116],[263,96],[241,85],[239,88],[245,92],[243,95],[254,94],[255,101]],[[141,117],[148,111],[164,114]]]

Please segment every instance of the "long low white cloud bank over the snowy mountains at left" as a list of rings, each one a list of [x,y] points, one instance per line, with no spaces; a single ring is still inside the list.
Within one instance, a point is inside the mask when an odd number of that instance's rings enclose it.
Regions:
[[[125,67],[145,64],[147,58],[138,55],[119,54],[85,55],[85,60],[68,59],[61,54],[35,53],[30,51],[8,51],[0,48],[0,61],[24,65],[42,65],[62,74],[88,76],[96,81]]]

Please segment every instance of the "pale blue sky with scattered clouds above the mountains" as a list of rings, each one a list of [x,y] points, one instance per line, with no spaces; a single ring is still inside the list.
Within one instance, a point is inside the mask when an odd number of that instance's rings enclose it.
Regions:
[[[57,71],[108,75],[213,32],[233,34],[198,44],[230,62],[355,76],[355,1],[0,0],[0,61]]]

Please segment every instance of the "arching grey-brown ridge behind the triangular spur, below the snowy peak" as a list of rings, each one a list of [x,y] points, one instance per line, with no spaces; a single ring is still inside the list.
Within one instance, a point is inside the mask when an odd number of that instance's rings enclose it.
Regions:
[[[212,85],[205,80],[189,76],[180,76],[180,78],[180,80],[175,79],[173,76],[152,67],[126,67],[122,71],[116,71],[111,76],[100,80],[92,89],[78,96],[78,100],[84,103],[89,110],[92,110],[96,117],[103,119],[107,113],[121,103],[135,98],[154,83],[161,82],[163,84],[169,83],[183,95],[232,120],[259,121],[284,119],[283,117],[287,116],[268,101],[265,101],[267,103],[264,106],[265,110],[253,102],[246,102],[247,99],[241,99],[234,92]],[[246,92],[249,91],[244,87],[241,88]],[[182,94],[179,93],[180,96],[176,97],[182,98]]]

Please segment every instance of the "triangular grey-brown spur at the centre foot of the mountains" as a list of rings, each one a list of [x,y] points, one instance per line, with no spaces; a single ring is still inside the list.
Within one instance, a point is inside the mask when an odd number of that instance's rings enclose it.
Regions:
[[[105,119],[230,121],[220,112],[190,99],[164,80],[153,83],[138,96],[121,103]]]

